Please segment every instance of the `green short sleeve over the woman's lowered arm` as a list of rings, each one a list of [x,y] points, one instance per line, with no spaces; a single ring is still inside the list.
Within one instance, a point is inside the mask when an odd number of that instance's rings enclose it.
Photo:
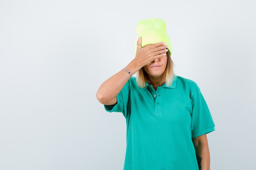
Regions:
[[[195,138],[214,131],[215,125],[207,103],[196,84],[192,93],[191,132],[192,138]]]

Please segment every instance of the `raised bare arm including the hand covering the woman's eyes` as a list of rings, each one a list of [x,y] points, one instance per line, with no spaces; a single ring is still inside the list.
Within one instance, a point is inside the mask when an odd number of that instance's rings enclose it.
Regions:
[[[141,44],[141,38],[138,39],[137,44]],[[135,74],[146,64],[159,57],[165,56],[167,47],[168,46],[165,46],[163,42],[149,44],[143,48],[138,45],[135,59],[126,66],[126,69],[130,71],[132,75]],[[103,82],[96,94],[99,102],[105,105],[115,104],[117,102],[118,93],[122,90],[128,79],[130,79],[130,74],[125,70],[121,70]]]

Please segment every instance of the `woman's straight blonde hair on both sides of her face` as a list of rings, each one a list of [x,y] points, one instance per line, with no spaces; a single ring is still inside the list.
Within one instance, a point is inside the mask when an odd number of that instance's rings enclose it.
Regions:
[[[165,83],[166,86],[171,86],[174,78],[174,71],[173,71],[173,60],[171,59],[171,54],[169,51],[166,53],[167,55],[167,64],[166,64],[166,79]],[[144,71],[143,68],[139,69],[136,76],[136,82],[139,88],[145,88],[146,82],[149,82],[148,74]]]

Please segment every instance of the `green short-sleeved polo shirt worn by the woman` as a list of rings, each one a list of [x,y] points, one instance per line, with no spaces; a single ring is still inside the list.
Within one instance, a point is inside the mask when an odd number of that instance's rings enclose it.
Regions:
[[[156,91],[131,77],[105,109],[126,118],[124,170],[198,170],[192,138],[215,130],[200,88],[179,76]]]

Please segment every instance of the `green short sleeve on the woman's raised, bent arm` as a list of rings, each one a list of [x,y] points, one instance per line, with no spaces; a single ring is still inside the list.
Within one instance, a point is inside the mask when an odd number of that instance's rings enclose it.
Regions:
[[[130,112],[129,91],[130,82],[128,81],[118,93],[117,103],[114,105],[104,105],[105,110],[107,112],[121,112],[123,113],[124,117],[127,118],[127,115]]]

